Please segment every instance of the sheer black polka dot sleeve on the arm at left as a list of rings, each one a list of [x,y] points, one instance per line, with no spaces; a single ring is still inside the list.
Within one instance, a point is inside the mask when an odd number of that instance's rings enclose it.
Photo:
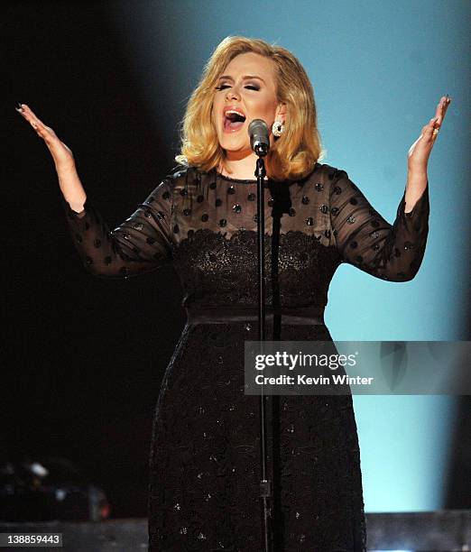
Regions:
[[[171,182],[163,180],[134,214],[109,230],[87,197],[77,213],[62,198],[73,243],[84,267],[102,278],[125,279],[158,269],[171,261]]]

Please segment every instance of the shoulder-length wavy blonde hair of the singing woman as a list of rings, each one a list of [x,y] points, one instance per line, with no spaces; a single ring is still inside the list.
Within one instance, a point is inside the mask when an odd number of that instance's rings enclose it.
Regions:
[[[226,37],[205,65],[180,123],[180,154],[175,160],[205,172],[224,163],[225,151],[219,145],[211,116],[215,87],[227,64],[246,52],[260,54],[275,63],[278,102],[286,104],[284,131],[265,158],[267,175],[277,180],[302,179],[324,153],[308,75],[300,61],[285,48],[242,36]]]

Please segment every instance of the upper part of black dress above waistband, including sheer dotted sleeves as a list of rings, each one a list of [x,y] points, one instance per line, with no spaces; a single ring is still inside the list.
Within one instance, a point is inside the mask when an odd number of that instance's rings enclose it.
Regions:
[[[78,253],[93,274],[129,278],[173,262],[186,290],[185,307],[224,308],[228,300],[256,307],[254,180],[181,170],[163,179],[112,231],[90,198],[81,215],[65,206]],[[389,281],[411,280],[419,270],[428,234],[428,187],[409,213],[404,192],[390,225],[345,170],[318,164],[302,181],[265,182],[267,273],[277,209],[282,306],[325,306],[341,262]]]

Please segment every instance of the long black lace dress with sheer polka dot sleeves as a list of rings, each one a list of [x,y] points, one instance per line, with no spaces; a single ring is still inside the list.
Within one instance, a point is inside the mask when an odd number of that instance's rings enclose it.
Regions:
[[[341,262],[408,281],[428,235],[429,189],[390,225],[344,170],[265,183],[267,339],[330,341],[323,310]],[[190,168],[162,180],[109,231],[90,198],[64,201],[88,271],[132,278],[171,262],[188,322],[165,372],[150,455],[152,551],[259,552],[259,397],[244,394],[244,341],[257,339],[256,182]],[[279,236],[279,237],[277,237]],[[156,393],[157,394],[157,393]],[[365,550],[351,395],[276,397],[269,465],[275,550]]]

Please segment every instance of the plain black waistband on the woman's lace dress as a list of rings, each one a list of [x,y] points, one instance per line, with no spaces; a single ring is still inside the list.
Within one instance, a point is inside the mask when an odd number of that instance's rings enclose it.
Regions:
[[[230,322],[258,321],[258,308],[186,308],[188,324],[224,324]],[[265,320],[271,322],[272,308],[265,308]],[[282,308],[282,324],[324,325],[324,307]]]

